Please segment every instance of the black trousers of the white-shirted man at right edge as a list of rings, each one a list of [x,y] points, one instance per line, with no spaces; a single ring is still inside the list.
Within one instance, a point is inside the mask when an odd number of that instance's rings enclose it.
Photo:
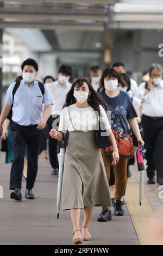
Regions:
[[[163,118],[153,119],[142,116],[144,131],[147,176],[152,178],[156,170],[157,178],[163,178]]]

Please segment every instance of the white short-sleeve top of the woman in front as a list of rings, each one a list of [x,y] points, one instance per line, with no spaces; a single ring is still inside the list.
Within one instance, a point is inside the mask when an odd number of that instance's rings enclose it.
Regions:
[[[108,117],[104,108],[99,105],[101,119],[106,130],[111,129]],[[67,131],[93,131],[96,130],[99,120],[99,114],[91,106],[78,108],[75,103],[62,109],[60,114],[58,131],[66,133]]]

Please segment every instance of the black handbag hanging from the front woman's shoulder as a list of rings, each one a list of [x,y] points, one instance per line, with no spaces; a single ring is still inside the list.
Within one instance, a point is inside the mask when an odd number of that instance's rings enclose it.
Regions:
[[[109,138],[106,134],[103,120],[100,118],[98,127],[96,128],[96,145],[98,149],[108,148],[111,146]]]

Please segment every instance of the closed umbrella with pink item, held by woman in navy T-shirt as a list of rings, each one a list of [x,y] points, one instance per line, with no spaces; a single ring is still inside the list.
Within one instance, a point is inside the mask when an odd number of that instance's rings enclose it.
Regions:
[[[144,180],[145,180],[145,165],[144,165],[144,154],[146,150],[143,148],[137,149],[136,151],[136,160],[137,160],[137,168],[140,171],[140,182],[139,182],[139,202],[141,205],[142,196],[144,192]]]

